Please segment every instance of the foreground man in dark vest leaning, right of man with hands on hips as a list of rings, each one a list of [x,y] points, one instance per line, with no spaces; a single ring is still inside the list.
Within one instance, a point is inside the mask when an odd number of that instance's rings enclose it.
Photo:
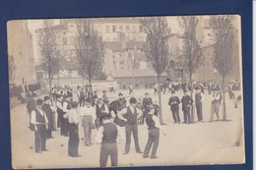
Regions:
[[[155,109],[154,107],[150,107],[150,112],[146,116],[146,123],[149,130],[149,140],[145,146],[143,158],[149,157],[149,153],[152,148],[151,158],[156,159],[157,157],[157,149],[159,147],[160,142],[160,121],[157,116],[154,115]],[[163,133],[164,134],[164,133]]]

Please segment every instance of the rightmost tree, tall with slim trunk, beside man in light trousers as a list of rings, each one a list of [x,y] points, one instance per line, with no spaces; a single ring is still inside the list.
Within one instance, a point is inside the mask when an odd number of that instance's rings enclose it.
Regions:
[[[210,26],[214,32],[213,66],[223,77],[223,95],[225,77],[232,69],[235,61],[233,57],[234,36],[231,22],[232,16],[230,15],[213,16],[210,19]],[[226,120],[225,97],[223,120]]]

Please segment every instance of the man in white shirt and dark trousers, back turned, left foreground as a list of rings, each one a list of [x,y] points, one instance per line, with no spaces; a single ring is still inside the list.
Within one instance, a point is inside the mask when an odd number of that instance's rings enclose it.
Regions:
[[[68,142],[68,154],[71,157],[81,157],[78,153],[79,146],[79,132],[78,132],[78,124],[79,124],[79,114],[78,114],[78,105],[77,101],[73,101],[71,103],[72,109],[70,109],[65,115],[64,118],[68,119],[69,122],[69,142]]]

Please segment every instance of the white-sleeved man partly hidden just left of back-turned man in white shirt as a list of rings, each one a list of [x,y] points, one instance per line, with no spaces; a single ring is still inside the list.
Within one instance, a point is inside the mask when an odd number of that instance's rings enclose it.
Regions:
[[[66,99],[63,101],[63,115],[65,115],[72,107],[71,107],[71,99],[72,95],[67,94]],[[68,120],[62,116],[61,127],[60,127],[61,135],[64,137],[68,137]]]

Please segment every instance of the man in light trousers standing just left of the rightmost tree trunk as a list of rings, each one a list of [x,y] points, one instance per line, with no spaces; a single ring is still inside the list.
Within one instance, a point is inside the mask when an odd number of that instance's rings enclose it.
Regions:
[[[212,107],[211,107],[211,122],[214,121],[214,115],[216,113],[217,120],[220,121],[220,105],[221,105],[221,92],[219,90],[215,91],[212,97]]]

